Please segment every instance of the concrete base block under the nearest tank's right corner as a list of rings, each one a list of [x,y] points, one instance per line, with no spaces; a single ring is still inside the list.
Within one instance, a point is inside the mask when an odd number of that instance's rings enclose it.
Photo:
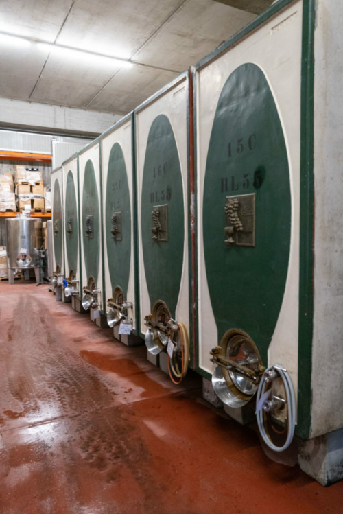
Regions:
[[[343,428],[299,443],[298,463],[305,473],[327,486],[343,479]]]

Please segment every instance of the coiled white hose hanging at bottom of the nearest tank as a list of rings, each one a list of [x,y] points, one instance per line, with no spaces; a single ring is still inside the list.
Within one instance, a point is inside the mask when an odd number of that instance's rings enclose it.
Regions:
[[[266,445],[268,445],[271,449],[274,450],[274,452],[283,452],[286,448],[289,447],[289,445],[292,443],[292,439],[294,436],[294,428],[296,425],[296,399],[294,396],[294,389],[292,386],[291,379],[287,373],[287,371],[281,367],[281,366],[270,366],[265,370],[263,373],[263,377],[261,379],[261,382],[259,384],[259,390],[257,391],[257,398],[256,403],[259,404],[259,400],[261,399],[261,396],[265,393],[265,386],[267,385],[267,382],[265,381],[266,375],[268,375],[268,372],[276,371],[279,373],[279,376],[281,377],[283,381],[283,385],[285,387],[285,393],[286,393],[286,401],[287,401],[287,417],[288,417],[288,434],[286,442],[283,446],[276,446],[272,441],[270,441],[270,438],[268,437],[267,432],[265,432],[265,426],[263,423],[263,408],[257,412],[257,425],[259,426],[259,431],[261,433],[261,436],[263,438],[263,441]]]

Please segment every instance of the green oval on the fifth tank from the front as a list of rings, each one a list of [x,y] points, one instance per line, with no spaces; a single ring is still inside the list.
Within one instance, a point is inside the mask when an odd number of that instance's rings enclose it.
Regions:
[[[64,230],[66,234],[66,247],[69,271],[74,274],[78,272],[78,205],[76,203],[76,191],[73,172],[69,170],[67,174],[67,185],[65,194],[65,220]]]

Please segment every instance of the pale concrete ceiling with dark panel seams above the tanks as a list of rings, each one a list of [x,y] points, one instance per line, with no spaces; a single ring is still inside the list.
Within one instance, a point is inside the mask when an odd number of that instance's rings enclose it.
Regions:
[[[0,46],[0,97],[126,114],[254,18],[215,0],[1,0],[0,31],[132,67]]]

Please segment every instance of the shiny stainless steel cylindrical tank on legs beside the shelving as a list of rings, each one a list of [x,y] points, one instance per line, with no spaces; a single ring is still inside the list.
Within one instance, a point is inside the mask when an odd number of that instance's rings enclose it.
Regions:
[[[25,279],[28,270],[34,268],[36,281],[40,279],[40,249],[42,247],[42,220],[19,214],[6,220],[7,265],[10,283],[14,283],[16,270],[23,270]]]

